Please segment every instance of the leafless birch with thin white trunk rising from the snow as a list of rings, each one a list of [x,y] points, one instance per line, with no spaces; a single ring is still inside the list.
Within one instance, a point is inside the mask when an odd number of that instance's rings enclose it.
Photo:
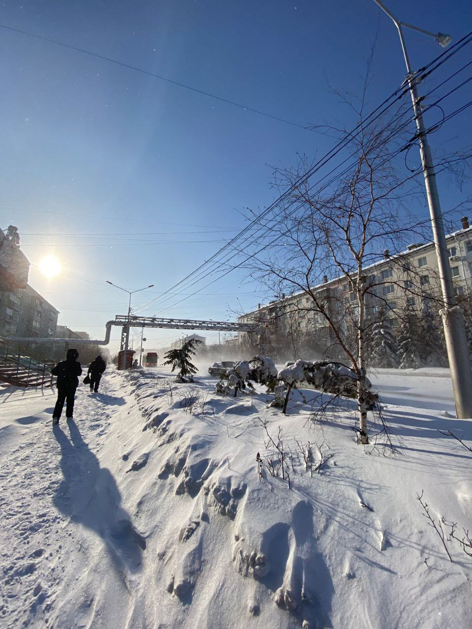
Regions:
[[[363,444],[369,441],[366,345],[375,321],[371,313],[391,308],[388,290],[383,289],[392,282],[388,274],[378,276],[369,267],[387,257],[388,250],[402,250],[412,233],[423,237],[426,225],[410,210],[412,198],[420,194],[416,174],[398,174],[389,159],[404,142],[398,133],[400,114],[395,111],[375,124],[364,124],[365,98],[364,86],[359,106],[349,103],[359,131],[350,138],[348,167],[329,185],[313,184],[304,176],[310,172],[304,157],[293,169],[274,170],[274,185],[290,191],[278,210],[284,247],[267,247],[264,256],[254,255],[250,263],[253,276],[275,295],[289,295],[276,316],[295,311],[324,321],[326,344],[335,347],[357,376],[358,434]],[[334,131],[346,136],[344,130]],[[265,225],[271,233],[273,220]],[[401,267],[402,257],[396,256],[392,264]],[[328,277],[339,276],[345,278],[342,289],[323,287]],[[402,289],[405,286],[406,281]]]

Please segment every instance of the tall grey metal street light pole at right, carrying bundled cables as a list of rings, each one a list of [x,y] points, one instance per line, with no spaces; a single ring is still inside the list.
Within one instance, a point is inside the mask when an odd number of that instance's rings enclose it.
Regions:
[[[426,196],[431,218],[434,248],[437,256],[437,266],[439,268],[439,278],[441,281],[441,292],[444,306],[442,309],[442,323],[444,326],[444,337],[446,338],[447,357],[451,369],[452,389],[454,391],[454,401],[456,403],[456,415],[458,418],[472,418],[472,371],[469,361],[466,331],[464,326],[464,316],[457,305],[454,283],[452,282],[451,266],[449,265],[449,252],[447,251],[446,235],[444,233],[444,223],[442,222],[441,204],[439,203],[439,193],[437,191],[436,175],[434,172],[431,150],[427,140],[427,133],[423,121],[421,101],[417,91],[417,76],[412,72],[410,60],[408,58],[405,39],[403,38],[402,26],[411,28],[425,35],[434,37],[435,41],[445,48],[451,43],[451,37],[444,33],[430,33],[417,26],[412,26],[405,22],[400,22],[381,3],[374,0],[382,11],[384,11],[393,21],[400,36],[403,57],[407,66],[407,81],[410,94],[412,96],[413,111],[417,126],[417,135],[420,142],[420,155],[425,180]]]

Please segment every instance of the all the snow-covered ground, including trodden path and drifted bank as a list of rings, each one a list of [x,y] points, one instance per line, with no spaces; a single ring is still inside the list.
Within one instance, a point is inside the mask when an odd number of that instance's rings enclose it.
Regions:
[[[371,374],[393,456],[356,445],[347,410],[313,427],[298,392],[286,416],[263,389],[217,396],[207,367],[194,385],[106,372],[54,429],[53,391],[0,389],[2,627],[472,626],[472,560],[443,525],[449,560],[417,500],[472,528],[472,453],[438,431],[472,445],[447,371]],[[261,420],[290,488],[265,462],[259,479]],[[319,474],[295,438],[333,455]]]

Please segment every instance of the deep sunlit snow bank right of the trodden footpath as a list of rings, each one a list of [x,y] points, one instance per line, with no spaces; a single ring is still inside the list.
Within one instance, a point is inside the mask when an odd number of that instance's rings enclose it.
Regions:
[[[470,626],[470,560],[452,543],[447,560],[416,499],[424,489],[436,518],[468,526],[471,455],[436,430],[468,425],[391,406],[401,454],[384,457],[355,445],[349,415],[313,431],[296,398],[284,417],[263,392],[222,398],[214,380],[155,375],[116,377],[135,399],[123,483],[158,626]],[[259,478],[261,418],[293,452],[290,489],[267,465]],[[294,437],[334,455],[322,473],[306,472]]]

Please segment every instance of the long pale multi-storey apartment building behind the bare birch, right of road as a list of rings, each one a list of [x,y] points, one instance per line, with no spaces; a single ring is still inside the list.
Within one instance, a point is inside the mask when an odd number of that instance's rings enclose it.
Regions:
[[[447,235],[447,249],[452,279],[458,299],[472,298],[472,228],[462,219],[462,229]],[[400,325],[405,308],[420,313],[425,300],[441,295],[437,257],[432,242],[413,243],[402,253],[390,255],[384,252],[383,260],[364,268],[366,316],[374,317],[382,309],[391,326]],[[336,277],[313,287],[317,299],[322,301],[329,315],[337,323],[349,327],[357,318],[357,298],[354,285],[348,277]],[[256,328],[249,340],[261,342],[261,338],[289,341],[290,335],[309,334],[327,344],[332,332],[325,316],[313,309],[313,300],[300,292],[275,299],[269,304],[258,304],[257,309],[238,318],[240,323],[254,323]],[[240,332],[239,343],[248,336]]]

